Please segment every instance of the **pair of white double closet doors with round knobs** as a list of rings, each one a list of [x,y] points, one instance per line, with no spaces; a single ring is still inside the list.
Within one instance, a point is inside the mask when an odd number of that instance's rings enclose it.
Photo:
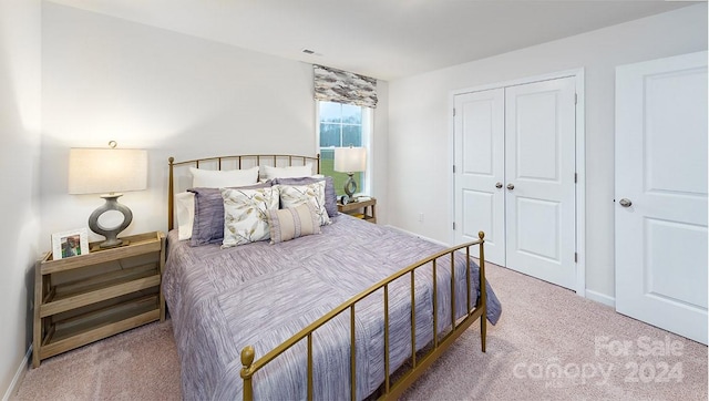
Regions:
[[[574,289],[575,79],[455,95],[456,241]]]

